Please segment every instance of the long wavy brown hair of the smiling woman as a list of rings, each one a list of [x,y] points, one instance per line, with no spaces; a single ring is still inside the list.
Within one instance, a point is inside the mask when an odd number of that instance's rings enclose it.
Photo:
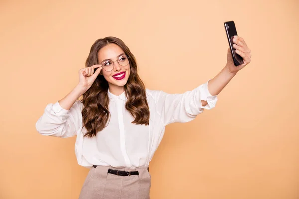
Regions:
[[[145,85],[137,74],[137,64],[134,55],[121,39],[105,37],[96,40],[91,46],[85,67],[98,64],[99,50],[110,43],[121,47],[129,58],[130,76],[124,86],[124,90],[128,99],[125,107],[133,118],[135,118],[132,123],[149,125],[149,106],[146,98]],[[85,137],[95,136],[97,132],[103,130],[109,123],[108,87],[108,82],[104,76],[98,75],[91,87],[83,94],[81,102],[83,103],[83,127],[85,126],[87,129],[87,133],[84,135]]]

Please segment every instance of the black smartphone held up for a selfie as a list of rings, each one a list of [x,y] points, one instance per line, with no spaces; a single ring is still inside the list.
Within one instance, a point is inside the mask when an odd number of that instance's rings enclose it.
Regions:
[[[235,66],[239,66],[240,64],[243,64],[243,58],[236,53],[236,49],[233,47],[233,37],[237,34],[236,26],[234,21],[226,21],[224,22],[224,27],[226,31],[227,40],[229,43],[229,47],[231,49],[231,53],[233,56],[234,64]]]

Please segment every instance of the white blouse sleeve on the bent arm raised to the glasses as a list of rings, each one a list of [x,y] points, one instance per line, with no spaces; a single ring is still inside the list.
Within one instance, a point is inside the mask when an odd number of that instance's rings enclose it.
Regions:
[[[63,109],[58,101],[48,104],[35,124],[36,130],[47,136],[72,137],[82,126],[82,103],[76,101],[70,110]]]

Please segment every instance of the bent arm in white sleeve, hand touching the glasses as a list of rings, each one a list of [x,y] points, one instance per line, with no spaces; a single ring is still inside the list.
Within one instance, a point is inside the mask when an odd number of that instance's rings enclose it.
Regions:
[[[79,83],[64,98],[55,104],[48,104],[43,115],[35,124],[42,135],[72,137],[82,125],[82,103],[77,101],[95,81],[102,68],[99,65],[79,70]],[[94,73],[94,69],[98,68]]]

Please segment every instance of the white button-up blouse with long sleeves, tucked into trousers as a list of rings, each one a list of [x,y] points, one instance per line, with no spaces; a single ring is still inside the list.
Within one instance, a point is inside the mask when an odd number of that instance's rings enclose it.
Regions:
[[[83,105],[79,100],[70,110],[63,109],[58,101],[48,104],[36,123],[36,129],[48,136],[66,138],[77,135],[75,153],[81,166],[147,168],[167,124],[191,121],[204,109],[215,107],[217,96],[209,93],[208,82],[182,94],[146,89],[149,126],[132,124],[134,118],[125,109],[125,93],[115,96],[108,89],[110,121],[95,137],[83,137],[87,131],[85,127],[81,130]],[[208,104],[202,106],[201,100]]]

